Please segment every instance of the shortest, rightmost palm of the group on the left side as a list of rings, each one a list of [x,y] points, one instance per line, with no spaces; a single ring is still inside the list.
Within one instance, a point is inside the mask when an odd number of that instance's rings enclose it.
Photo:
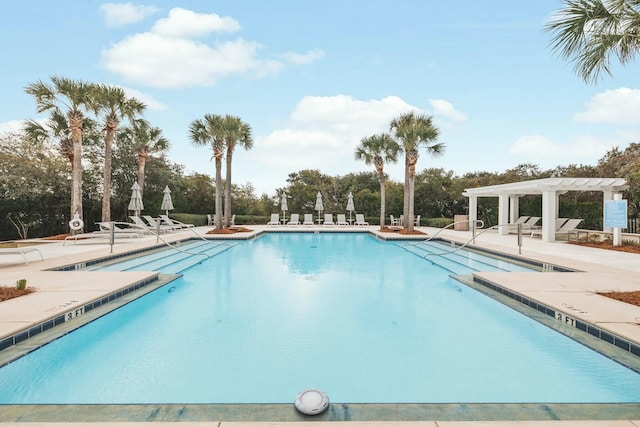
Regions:
[[[138,185],[140,196],[144,194],[144,170],[147,158],[151,153],[158,153],[169,148],[169,140],[162,136],[162,130],[152,127],[144,119],[135,119],[130,126],[118,132],[118,143],[133,147],[138,153]]]

